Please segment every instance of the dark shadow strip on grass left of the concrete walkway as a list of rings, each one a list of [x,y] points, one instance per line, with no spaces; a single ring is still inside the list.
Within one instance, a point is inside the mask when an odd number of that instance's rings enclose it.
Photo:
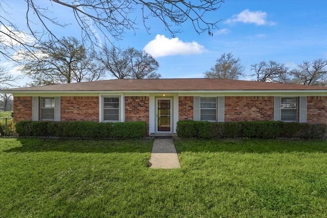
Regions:
[[[4,152],[148,153],[153,140],[64,140],[19,138],[19,147]]]

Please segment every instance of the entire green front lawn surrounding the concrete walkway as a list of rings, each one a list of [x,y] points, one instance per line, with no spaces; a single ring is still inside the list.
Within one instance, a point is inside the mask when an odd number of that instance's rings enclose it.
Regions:
[[[0,138],[0,217],[327,217],[326,141]]]

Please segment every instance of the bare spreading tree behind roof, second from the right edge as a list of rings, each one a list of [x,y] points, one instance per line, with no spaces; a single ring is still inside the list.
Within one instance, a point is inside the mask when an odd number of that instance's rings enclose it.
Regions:
[[[250,75],[254,77],[254,81],[259,82],[277,82],[288,83],[288,67],[285,64],[277,63],[276,61],[262,61],[258,64],[252,64],[251,70],[254,74]]]

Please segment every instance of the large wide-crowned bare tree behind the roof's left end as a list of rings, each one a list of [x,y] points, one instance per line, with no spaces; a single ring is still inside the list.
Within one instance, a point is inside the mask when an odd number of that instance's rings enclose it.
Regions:
[[[93,81],[105,75],[94,55],[74,37],[43,42],[18,57],[22,57],[20,70],[34,80],[30,85]]]

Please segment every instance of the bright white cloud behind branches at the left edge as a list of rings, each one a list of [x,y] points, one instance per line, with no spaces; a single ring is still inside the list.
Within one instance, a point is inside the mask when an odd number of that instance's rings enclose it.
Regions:
[[[11,27],[1,25],[0,40],[8,46],[15,46],[19,43],[33,42],[33,37],[28,33],[12,30]]]

